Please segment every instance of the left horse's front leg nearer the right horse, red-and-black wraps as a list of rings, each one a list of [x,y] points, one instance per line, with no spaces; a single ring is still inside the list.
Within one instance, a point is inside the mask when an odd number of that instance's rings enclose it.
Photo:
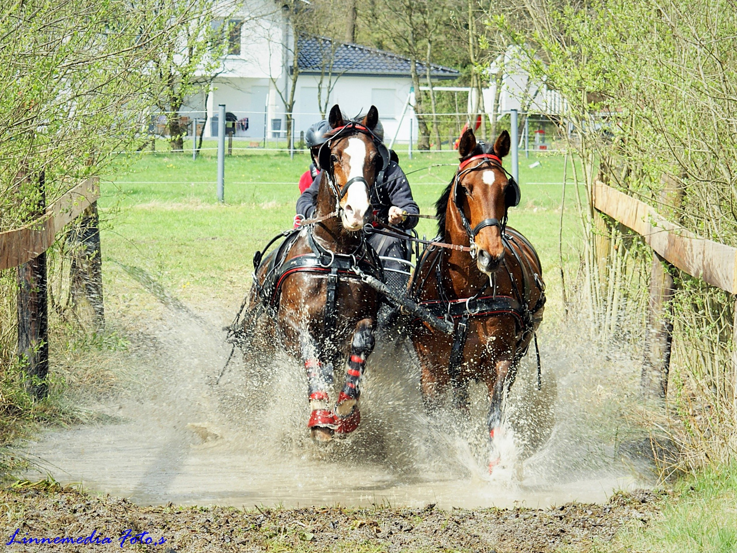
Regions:
[[[338,396],[335,414],[338,416],[336,434],[349,434],[358,428],[361,414],[358,410],[360,378],[366,367],[366,358],[374,350],[374,329],[371,319],[363,319],[356,324],[351,341],[351,355],[346,369],[346,383]]]

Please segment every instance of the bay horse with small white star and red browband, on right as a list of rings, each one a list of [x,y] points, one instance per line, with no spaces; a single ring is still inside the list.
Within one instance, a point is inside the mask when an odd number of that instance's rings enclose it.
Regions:
[[[465,247],[427,248],[409,285],[420,305],[455,324],[453,335],[413,326],[425,407],[435,410],[450,389],[454,408],[468,414],[469,382],[486,383],[489,472],[500,461],[503,400],[545,305],[537,252],[506,225],[507,210],[520,201],[517,183],[502,167],[509,147],[507,131],[493,146],[476,142],[471,129],[461,136],[458,170],[436,209],[439,236]]]

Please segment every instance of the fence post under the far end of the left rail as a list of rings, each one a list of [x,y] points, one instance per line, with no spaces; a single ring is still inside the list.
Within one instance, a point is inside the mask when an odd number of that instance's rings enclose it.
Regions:
[[[71,299],[77,313],[88,305],[94,327],[105,326],[105,305],[102,302],[102,250],[99,241],[97,201],[80,215],[69,233],[73,243],[71,259]]]

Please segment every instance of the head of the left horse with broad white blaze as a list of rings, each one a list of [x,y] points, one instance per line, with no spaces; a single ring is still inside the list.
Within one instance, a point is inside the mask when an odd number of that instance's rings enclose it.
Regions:
[[[369,196],[377,174],[389,161],[388,151],[374,135],[379,111],[372,105],[360,121],[346,121],[335,104],[328,121],[332,131],[326,134],[318,163],[325,170],[343,228],[357,232],[371,212]]]

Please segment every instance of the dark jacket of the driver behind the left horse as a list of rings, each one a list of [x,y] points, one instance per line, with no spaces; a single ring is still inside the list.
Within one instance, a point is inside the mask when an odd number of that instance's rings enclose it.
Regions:
[[[315,212],[315,204],[318,199],[321,175],[317,175],[310,187],[305,190],[297,200],[297,213],[305,218],[312,217]],[[408,213],[419,213],[419,207],[412,198],[412,190],[409,181],[402,168],[394,161],[390,161],[383,175],[380,173],[374,188],[371,189],[371,206],[374,208],[376,218],[386,223],[389,208],[397,206]],[[412,229],[416,226],[419,218],[408,217],[403,223],[399,223],[402,229]]]

